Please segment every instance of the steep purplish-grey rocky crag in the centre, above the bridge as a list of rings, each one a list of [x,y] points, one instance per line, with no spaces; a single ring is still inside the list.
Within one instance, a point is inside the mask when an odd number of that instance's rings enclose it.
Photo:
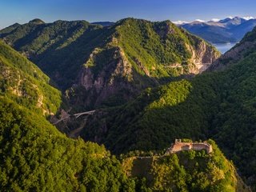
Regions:
[[[136,92],[138,90],[135,90],[132,85],[132,66],[120,47],[112,47],[107,50],[108,54],[113,55],[104,61],[106,65],[101,69],[97,69],[97,66],[90,66],[100,57],[96,53],[98,52],[94,50],[90,54],[90,58],[78,74],[78,82],[70,89],[79,94],[78,97],[78,94],[73,97],[73,102],[91,107],[101,104],[112,105],[114,103],[110,103],[111,100],[116,104],[121,104],[134,94],[138,94]]]

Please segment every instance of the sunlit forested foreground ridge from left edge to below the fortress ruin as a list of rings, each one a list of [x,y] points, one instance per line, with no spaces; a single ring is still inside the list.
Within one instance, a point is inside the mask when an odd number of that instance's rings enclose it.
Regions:
[[[33,101],[39,93],[44,98],[53,94],[46,106],[58,98],[46,74],[4,42],[0,42],[0,63],[2,191],[250,191],[211,140],[207,141],[213,147],[210,154],[191,150],[115,157],[104,146],[67,138],[35,110]],[[146,166],[138,166],[144,162]]]

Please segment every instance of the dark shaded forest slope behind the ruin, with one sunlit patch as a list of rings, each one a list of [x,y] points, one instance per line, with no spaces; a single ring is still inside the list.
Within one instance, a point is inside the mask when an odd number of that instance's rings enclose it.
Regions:
[[[116,154],[161,150],[174,138],[214,138],[256,189],[256,28],[192,79],[149,88],[117,108],[90,117],[82,138]]]

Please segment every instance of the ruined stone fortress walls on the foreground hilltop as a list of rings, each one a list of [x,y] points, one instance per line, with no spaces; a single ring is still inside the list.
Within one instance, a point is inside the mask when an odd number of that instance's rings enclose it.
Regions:
[[[210,154],[213,148],[208,142],[182,142],[182,139],[175,139],[175,142],[166,150],[166,154],[173,154],[182,150],[206,150],[207,154]]]

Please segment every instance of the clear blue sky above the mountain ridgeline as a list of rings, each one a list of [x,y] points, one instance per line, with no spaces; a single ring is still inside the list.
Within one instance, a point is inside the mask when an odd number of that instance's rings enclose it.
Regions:
[[[0,0],[0,29],[40,18],[116,22],[122,18],[150,21],[210,20],[256,17],[255,0]]]

